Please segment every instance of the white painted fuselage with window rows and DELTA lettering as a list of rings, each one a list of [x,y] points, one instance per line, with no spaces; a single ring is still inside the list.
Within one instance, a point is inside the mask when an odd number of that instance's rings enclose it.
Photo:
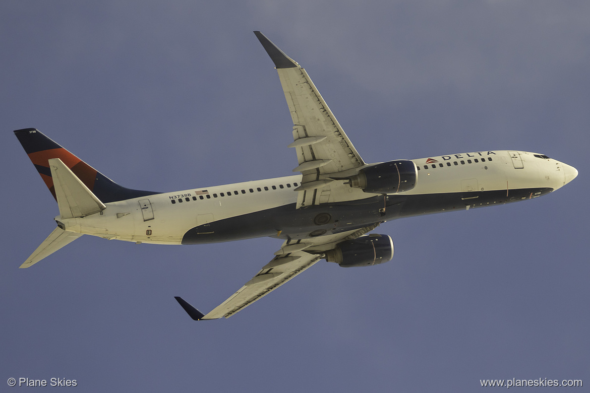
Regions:
[[[535,190],[559,189],[576,176],[577,171],[573,167],[543,157],[526,151],[496,150],[419,158],[412,160],[418,169],[416,186],[395,195],[409,199],[427,194],[462,193],[460,200],[464,204],[461,209],[469,209],[480,203],[476,196],[479,192],[502,191],[501,194],[504,194],[505,191],[506,200],[501,201],[504,203],[510,202],[511,192],[531,190],[530,194],[526,194],[528,198],[519,196],[519,200],[532,199],[541,194]],[[91,216],[67,220],[58,216],[55,219],[70,232],[137,243],[178,245],[183,236],[195,227],[206,228],[209,223],[245,214],[272,212],[273,209],[290,204],[295,209],[297,191],[294,189],[300,185],[300,181],[301,176],[296,175],[153,194],[107,203],[103,212]],[[332,189],[341,192],[327,194],[322,203],[341,203],[376,196],[352,188],[345,181],[339,182],[342,184],[332,186]],[[432,212],[435,211],[424,211]],[[414,214],[424,213],[417,211]],[[383,220],[391,218],[384,217]],[[274,227],[262,236],[284,237],[281,236],[281,227],[277,227],[280,224],[276,220],[273,223]],[[253,233],[249,237],[257,236],[261,236],[260,233]]]

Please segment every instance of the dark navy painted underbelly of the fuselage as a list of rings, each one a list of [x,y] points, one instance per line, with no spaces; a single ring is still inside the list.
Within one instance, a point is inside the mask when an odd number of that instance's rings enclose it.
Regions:
[[[552,191],[548,188],[462,193],[378,195],[351,202],[326,203],[296,209],[286,204],[196,226],[182,238],[183,245],[230,242],[254,237],[303,239],[329,235],[401,217],[453,212],[533,199]]]

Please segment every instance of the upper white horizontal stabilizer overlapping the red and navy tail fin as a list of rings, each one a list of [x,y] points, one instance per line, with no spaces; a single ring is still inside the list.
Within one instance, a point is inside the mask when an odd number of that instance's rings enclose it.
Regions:
[[[106,206],[63,161],[59,158],[51,158],[48,162],[61,218],[85,217],[106,209]]]

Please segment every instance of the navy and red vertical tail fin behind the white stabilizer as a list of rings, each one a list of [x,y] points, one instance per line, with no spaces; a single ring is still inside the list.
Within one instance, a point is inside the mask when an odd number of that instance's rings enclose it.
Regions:
[[[16,130],[14,134],[56,200],[55,185],[49,164],[51,158],[59,158],[103,203],[156,194],[152,191],[131,190],[119,186],[35,128]]]

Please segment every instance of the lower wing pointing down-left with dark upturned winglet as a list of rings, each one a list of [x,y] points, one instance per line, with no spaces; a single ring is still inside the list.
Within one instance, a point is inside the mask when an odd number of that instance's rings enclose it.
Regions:
[[[327,250],[333,249],[337,243],[343,240],[356,239],[356,237],[365,235],[365,233],[375,229],[378,225],[378,223],[375,223],[368,227],[349,230],[336,235],[317,236],[293,242],[286,240],[283,246],[274,253],[276,256],[264,265],[260,272],[225,302],[206,315],[181,297],[175,296],[175,299],[195,321],[230,318],[230,316],[294,278],[303,270],[312,267],[314,263],[324,257]]]

